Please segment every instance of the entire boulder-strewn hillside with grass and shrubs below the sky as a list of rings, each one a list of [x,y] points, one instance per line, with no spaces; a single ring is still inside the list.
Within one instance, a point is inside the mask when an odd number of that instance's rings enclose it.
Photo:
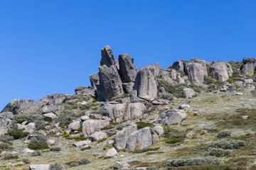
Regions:
[[[4,107],[0,169],[256,169],[256,58],[138,69],[101,52],[91,86]]]

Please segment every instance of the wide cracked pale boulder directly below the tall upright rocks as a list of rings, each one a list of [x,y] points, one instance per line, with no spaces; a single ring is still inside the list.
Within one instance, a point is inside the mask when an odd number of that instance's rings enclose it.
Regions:
[[[128,103],[128,104],[110,104],[106,103],[100,111],[116,123],[121,123],[123,120],[131,118],[139,118],[143,114],[146,106],[143,103]]]

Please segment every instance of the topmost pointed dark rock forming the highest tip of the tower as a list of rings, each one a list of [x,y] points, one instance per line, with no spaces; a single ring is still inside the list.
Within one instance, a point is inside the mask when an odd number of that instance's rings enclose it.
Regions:
[[[100,65],[106,65],[107,67],[111,67],[115,64],[114,55],[109,45],[102,48],[102,59],[100,60]]]

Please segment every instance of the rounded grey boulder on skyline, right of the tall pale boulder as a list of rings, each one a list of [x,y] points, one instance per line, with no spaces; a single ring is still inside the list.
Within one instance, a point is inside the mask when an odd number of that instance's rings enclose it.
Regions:
[[[213,64],[210,65],[209,70],[211,76],[219,81],[226,81],[233,73],[230,64],[224,61],[213,62]]]

